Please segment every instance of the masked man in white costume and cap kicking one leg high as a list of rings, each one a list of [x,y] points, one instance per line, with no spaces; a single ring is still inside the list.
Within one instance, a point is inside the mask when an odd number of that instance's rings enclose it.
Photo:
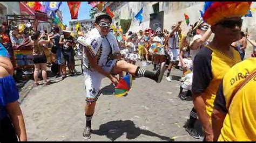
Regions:
[[[83,132],[84,139],[91,137],[91,119],[95,112],[96,101],[101,93],[100,83],[104,77],[118,84],[117,73],[126,71],[137,77],[147,77],[157,83],[161,82],[165,63],[161,64],[159,70],[154,74],[126,61],[120,60],[120,51],[116,38],[109,34],[112,18],[105,13],[97,13],[93,19],[93,28],[84,38],[78,42],[83,46],[83,71],[86,87],[85,120],[86,125]],[[111,57],[111,58],[110,58]]]

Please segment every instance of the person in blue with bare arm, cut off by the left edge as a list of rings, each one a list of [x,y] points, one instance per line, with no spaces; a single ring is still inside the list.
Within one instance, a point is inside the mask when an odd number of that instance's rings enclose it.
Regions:
[[[0,142],[27,141],[19,93],[12,74],[10,55],[0,44]]]

